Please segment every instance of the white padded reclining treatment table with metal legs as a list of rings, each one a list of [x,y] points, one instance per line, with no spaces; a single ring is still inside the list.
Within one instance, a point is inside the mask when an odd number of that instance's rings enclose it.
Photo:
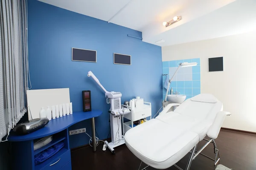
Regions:
[[[175,111],[173,106],[178,106]],[[225,116],[222,103],[211,94],[199,94],[182,104],[169,104],[155,119],[131,128],[125,133],[125,144],[148,166],[166,169],[191,153],[186,170],[192,160],[209,144],[214,146],[215,165],[219,161],[214,139],[218,137]],[[210,140],[196,151],[198,142],[209,136]],[[218,155],[218,159],[217,159]],[[145,168],[144,168],[145,169]]]

